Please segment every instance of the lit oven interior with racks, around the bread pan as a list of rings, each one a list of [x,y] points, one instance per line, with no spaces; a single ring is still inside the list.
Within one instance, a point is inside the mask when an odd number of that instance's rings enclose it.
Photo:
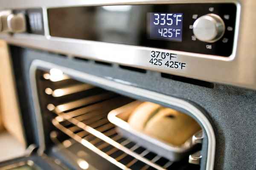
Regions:
[[[64,161],[73,162],[66,166],[77,169],[88,163],[96,169],[200,169],[200,165],[189,163],[189,154],[170,161],[116,131],[108,113],[134,98],[77,81],[56,68],[37,70],[36,80],[46,153],[72,160]],[[201,150],[201,145],[198,143],[190,154]]]

